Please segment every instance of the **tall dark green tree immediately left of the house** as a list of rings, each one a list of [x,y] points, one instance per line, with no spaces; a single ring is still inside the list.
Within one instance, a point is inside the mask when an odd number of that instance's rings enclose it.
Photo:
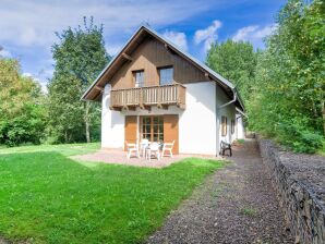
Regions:
[[[49,83],[49,131],[57,142],[91,142],[99,135],[99,105],[80,98],[105,68],[110,57],[105,49],[103,25],[84,17],[83,28],[69,27],[57,33],[59,42],[52,46],[56,61]],[[82,133],[84,131],[84,133]]]

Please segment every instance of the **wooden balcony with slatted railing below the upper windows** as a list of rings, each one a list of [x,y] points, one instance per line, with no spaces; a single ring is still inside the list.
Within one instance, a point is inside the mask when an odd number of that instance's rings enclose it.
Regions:
[[[137,87],[129,89],[112,89],[110,91],[110,109],[119,110],[151,110],[152,106],[168,109],[168,106],[174,105],[185,109],[186,88],[181,84],[165,86]]]

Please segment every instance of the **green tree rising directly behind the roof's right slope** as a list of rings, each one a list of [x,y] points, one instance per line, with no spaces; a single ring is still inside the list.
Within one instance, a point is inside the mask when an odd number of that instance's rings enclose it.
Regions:
[[[206,64],[232,82],[245,102],[254,86],[256,57],[250,42],[228,39],[225,42],[212,45]]]

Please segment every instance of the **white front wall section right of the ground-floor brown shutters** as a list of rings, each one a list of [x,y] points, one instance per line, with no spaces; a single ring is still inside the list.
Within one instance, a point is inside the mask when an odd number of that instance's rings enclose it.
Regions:
[[[216,83],[185,86],[186,109],[179,120],[180,152],[216,155]]]

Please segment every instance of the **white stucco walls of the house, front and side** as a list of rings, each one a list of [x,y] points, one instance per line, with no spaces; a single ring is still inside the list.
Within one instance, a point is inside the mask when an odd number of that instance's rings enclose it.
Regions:
[[[185,84],[186,109],[170,106],[168,110],[154,107],[151,111],[112,111],[109,109],[110,85],[103,95],[101,146],[122,148],[124,143],[125,115],[179,114],[179,151],[180,154],[216,155],[221,139],[231,143],[237,133],[231,135],[231,119],[236,118],[233,105],[217,109],[229,101],[224,90],[215,82]],[[217,111],[217,112],[216,112]],[[221,136],[219,126],[221,115],[228,118],[227,136]],[[139,131],[139,130],[137,130]],[[140,137],[140,136],[139,136]]]

